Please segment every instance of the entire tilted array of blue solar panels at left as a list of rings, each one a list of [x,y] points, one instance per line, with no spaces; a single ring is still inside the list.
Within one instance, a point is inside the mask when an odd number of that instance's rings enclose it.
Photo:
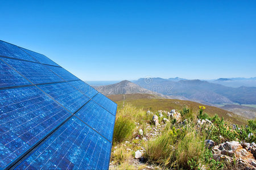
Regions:
[[[108,169],[116,110],[43,54],[0,41],[0,169]]]

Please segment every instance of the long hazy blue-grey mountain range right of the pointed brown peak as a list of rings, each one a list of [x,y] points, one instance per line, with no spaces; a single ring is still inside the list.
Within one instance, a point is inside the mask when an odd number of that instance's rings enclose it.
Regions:
[[[184,96],[189,100],[201,100],[212,104],[256,104],[256,87],[226,87],[202,80],[180,80],[151,78],[151,82],[138,79],[135,84],[163,95]]]

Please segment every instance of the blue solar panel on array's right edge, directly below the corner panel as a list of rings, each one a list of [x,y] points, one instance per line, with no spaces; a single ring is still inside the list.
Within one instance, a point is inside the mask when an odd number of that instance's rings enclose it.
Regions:
[[[105,138],[112,141],[115,116],[94,101],[90,100],[75,114],[93,129],[97,130]]]

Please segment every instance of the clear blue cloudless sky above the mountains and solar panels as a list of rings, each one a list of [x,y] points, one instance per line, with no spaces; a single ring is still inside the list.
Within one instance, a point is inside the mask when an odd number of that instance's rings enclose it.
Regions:
[[[0,1],[0,39],[83,80],[256,76],[256,1]]]

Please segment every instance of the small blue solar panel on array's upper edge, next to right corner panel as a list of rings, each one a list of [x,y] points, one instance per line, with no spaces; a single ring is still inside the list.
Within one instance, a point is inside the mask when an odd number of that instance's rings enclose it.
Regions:
[[[90,98],[92,98],[93,96],[95,96],[98,93],[94,88],[90,87],[88,84],[86,84],[82,80],[72,81],[72,82],[68,82],[68,83],[71,84],[72,86],[76,87],[83,94],[85,94],[86,96],[88,96]]]

